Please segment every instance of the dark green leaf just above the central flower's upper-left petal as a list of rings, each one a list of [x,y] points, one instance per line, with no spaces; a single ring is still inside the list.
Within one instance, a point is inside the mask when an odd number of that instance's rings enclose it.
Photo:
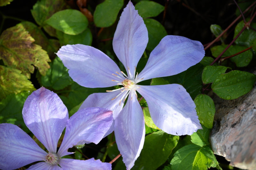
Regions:
[[[92,45],[92,33],[89,28],[86,28],[82,33],[78,35],[68,35],[57,30],[56,35],[60,40],[61,46],[67,44]]]

